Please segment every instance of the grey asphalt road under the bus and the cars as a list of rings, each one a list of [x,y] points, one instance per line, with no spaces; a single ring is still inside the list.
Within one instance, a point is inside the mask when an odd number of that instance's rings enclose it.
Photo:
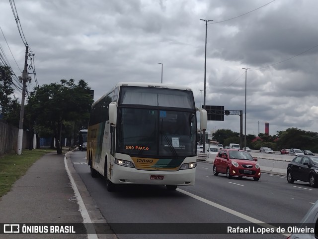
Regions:
[[[85,156],[86,152],[75,151],[71,160],[110,224],[128,223],[132,227],[130,223],[135,223],[134,227],[143,228],[149,227],[146,223],[170,223],[181,224],[186,230],[204,224],[222,227],[236,223],[299,223],[318,196],[318,188],[303,182],[288,184],[286,177],[279,175],[263,173],[257,182],[252,178],[214,176],[212,163],[207,162],[198,162],[194,187],[178,187],[171,192],[164,186],[120,185],[116,192],[109,193],[103,178],[91,178]],[[286,238],[280,234],[117,235],[119,239]]]

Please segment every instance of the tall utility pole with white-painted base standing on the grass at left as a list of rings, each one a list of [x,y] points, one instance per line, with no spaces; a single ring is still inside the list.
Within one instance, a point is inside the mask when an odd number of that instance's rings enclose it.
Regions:
[[[22,72],[22,77],[21,77],[21,80],[23,81],[23,87],[22,87],[19,132],[18,132],[18,145],[17,145],[17,154],[19,154],[19,155],[22,153],[22,142],[23,142],[24,99],[25,99],[25,91],[26,91],[26,82],[28,80],[27,60],[28,60],[28,46],[26,45],[25,46],[24,70]]]

